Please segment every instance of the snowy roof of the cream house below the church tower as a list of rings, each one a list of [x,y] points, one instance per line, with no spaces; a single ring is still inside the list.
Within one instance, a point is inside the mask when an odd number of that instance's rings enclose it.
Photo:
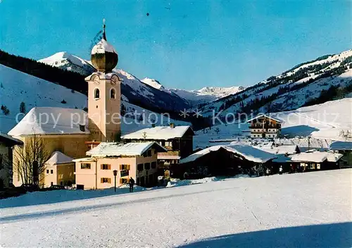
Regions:
[[[131,142],[126,144],[101,142],[98,146],[86,152],[88,156],[140,156],[150,148],[157,151],[167,151],[156,142]]]

